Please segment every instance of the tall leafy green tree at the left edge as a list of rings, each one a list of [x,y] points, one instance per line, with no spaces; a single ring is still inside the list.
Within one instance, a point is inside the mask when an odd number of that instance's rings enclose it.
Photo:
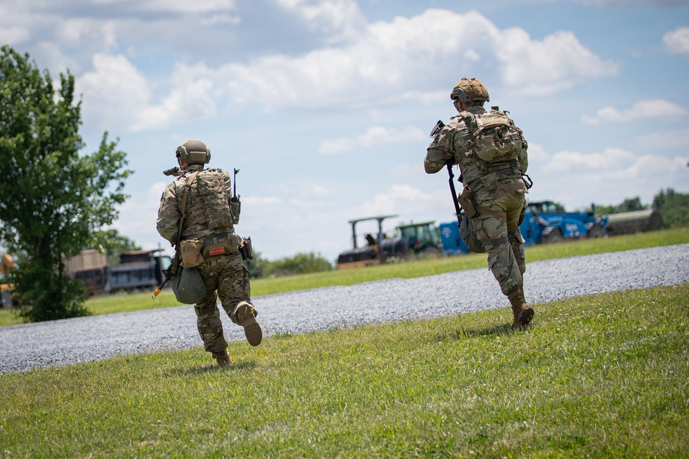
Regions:
[[[79,154],[81,100],[69,70],[56,89],[28,54],[0,50],[0,239],[19,260],[12,273],[19,314],[28,321],[88,314],[64,260],[114,221],[132,171],[121,170],[126,153],[107,131],[98,151]]]

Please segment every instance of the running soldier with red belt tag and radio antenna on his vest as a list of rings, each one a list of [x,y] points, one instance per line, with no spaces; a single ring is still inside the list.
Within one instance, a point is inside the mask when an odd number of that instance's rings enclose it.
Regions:
[[[212,352],[218,365],[229,365],[232,361],[216,303],[218,297],[232,322],[243,326],[249,344],[259,345],[263,337],[251,304],[249,273],[238,250],[241,238],[234,232],[234,224],[239,220],[238,202],[232,202],[231,178],[227,171],[204,169],[204,164],[210,160],[210,151],[203,142],[187,140],[177,148],[176,157],[181,171],[163,191],[158,210],[158,233],[177,245],[178,250],[187,242],[189,246],[198,246],[198,261],[203,262],[196,268],[208,290],[194,305],[198,333],[205,350]],[[187,180],[192,180],[192,184],[178,241]],[[191,267],[184,263],[183,266]]]

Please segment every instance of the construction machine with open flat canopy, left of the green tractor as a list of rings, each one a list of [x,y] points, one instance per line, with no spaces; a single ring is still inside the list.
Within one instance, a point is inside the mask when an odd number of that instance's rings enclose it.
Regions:
[[[351,224],[352,249],[340,253],[338,262],[335,264],[336,268],[363,268],[364,266],[384,263],[391,256],[404,256],[409,248],[407,241],[401,237],[386,237],[382,228],[383,220],[397,216],[380,215],[378,217],[349,220],[349,224]],[[377,237],[373,237],[371,233],[366,233],[364,236],[366,245],[360,247],[357,243],[356,224],[368,220],[376,220],[378,222],[378,234]]]

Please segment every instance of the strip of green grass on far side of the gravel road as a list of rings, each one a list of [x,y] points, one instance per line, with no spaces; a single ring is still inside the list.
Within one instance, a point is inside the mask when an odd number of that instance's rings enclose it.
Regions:
[[[637,235],[622,235],[606,237],[605,239],[591,239],[548,246],[533,246],[526,248],[526,261],[574,257],[593,253],[619,252],[635,248],[668,246],[689,242],[689,227],[671,230],[654,231]],[[251,295],[270,295],[273,293],[305,290],[325,286],[350,286],[360,282],[376,281],[399,277],[423,277],[448,273],[450,271],[466,270],[486,267],[486,255],[470,254],[456,257],[442,257],[409,261],[407,263],[385,264],[369,266],[362,269],[330,271],[274,279],[254,279],[251,281]],[[167,308],[178,306],[170,290],[165,290],[153,300],[153,292],[132,295],[99,296],[88,299],[86,306],[94,314],[110,314],[112,312],[126,312],[153,308]],[[11,310],[0,310],[0,326],[21,323]]]

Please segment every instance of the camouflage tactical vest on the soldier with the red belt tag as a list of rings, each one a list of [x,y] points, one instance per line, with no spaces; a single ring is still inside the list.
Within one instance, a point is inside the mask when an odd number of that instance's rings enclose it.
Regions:
[[[203,169],[187,180],[193,180],[191,192],[194,205],[185,211],[185,228],[204,223],[210,231],[222,233],[232,230],[234,222],[229,207],[229,189],[220,169]]]

